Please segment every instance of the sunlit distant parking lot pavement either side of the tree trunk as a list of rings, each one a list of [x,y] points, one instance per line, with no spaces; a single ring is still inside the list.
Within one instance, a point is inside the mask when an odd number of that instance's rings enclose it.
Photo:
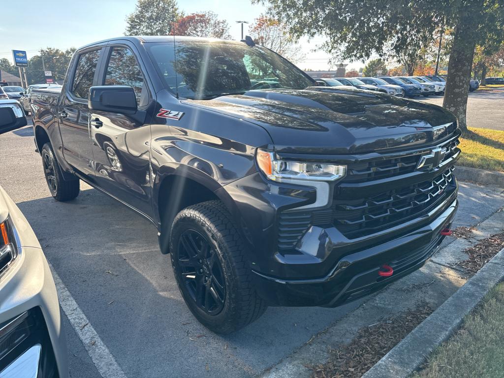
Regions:
[[[431,104],[443,105],[443,96],[416,98]],[[504,90],[478,90],[469,92],[467,124],[473,128],[504,131]]]

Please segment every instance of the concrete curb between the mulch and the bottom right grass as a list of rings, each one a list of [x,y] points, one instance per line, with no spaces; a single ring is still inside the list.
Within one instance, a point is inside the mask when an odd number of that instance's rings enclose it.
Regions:
[[[424,363],[435,347],[460,327],[467,314],[502,279],[504,249],[362,375],[362,378],[408,377]]]

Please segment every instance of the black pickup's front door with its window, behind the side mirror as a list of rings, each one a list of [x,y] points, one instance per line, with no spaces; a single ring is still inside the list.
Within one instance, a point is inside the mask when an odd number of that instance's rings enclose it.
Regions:
[[[149,91],[138,61],[126,46],[112,46],[100,85],[133,87],[138,112],[145,113]],[[96,183],[107,193],[152,218],[150,125],[139,117],[90,110]]]

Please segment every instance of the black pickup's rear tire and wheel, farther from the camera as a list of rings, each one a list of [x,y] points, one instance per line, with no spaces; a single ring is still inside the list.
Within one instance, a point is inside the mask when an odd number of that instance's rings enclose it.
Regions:
[[[61,202],[76,198],[79,195],[79,179],[76,177],[75,179],[67,180],[63,177],[51,144],[44,144],[40,154],[42,155],[45,181],[47,182],[51,196]]]

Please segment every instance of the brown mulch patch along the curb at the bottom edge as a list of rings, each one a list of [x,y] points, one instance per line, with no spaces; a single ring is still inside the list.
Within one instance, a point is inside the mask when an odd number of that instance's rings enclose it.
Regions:
[[[330,360],[313,370],[312,378],[358,378],[385,356],[431,313],[426,303],[414,310],[360,329],[348,345],[330,348]]]

